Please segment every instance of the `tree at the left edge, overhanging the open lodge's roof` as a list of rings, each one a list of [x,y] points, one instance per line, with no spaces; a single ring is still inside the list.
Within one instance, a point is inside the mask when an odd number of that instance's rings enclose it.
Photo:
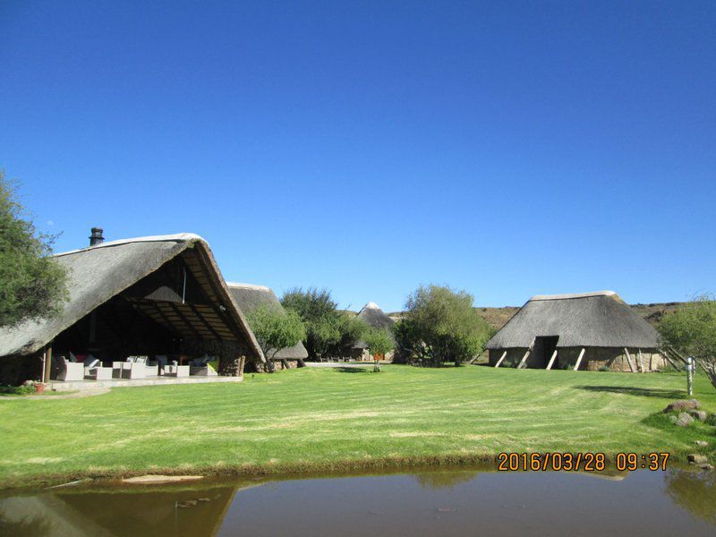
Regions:
[[[51,319],[67,300],[67,275],[51,257],[54,237],[38,233],[0,171],[0,327]]]

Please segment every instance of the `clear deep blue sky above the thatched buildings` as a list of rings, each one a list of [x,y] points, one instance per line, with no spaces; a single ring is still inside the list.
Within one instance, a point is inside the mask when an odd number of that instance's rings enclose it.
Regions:
[[[148,5],[149,4],[149,5]],[[0,3],[0,167],[56,250],[402,307],[716,291],[712,2]]]

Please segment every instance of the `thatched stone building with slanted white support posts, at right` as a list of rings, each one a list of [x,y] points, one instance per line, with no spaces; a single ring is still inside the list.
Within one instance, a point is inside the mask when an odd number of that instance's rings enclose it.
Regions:
[[[665,363],[656,330],[613,291],[533,296],[486,348],[493,366],[656,371]]]

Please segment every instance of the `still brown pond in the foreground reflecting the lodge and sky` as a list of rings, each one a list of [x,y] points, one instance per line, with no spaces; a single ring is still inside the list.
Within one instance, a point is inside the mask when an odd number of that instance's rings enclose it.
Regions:
[[[92,484],[0,498],[3,535],[714,535],[716,473],[413,473],[171,486]]]

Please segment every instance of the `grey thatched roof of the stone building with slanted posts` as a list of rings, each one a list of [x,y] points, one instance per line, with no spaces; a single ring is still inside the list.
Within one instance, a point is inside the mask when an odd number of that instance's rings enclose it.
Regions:
[[[527,348],[536,336],[558,336],[558,347],[658,347],[657,332],[613,291],[533,296],[487,343]]]

